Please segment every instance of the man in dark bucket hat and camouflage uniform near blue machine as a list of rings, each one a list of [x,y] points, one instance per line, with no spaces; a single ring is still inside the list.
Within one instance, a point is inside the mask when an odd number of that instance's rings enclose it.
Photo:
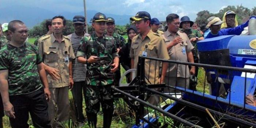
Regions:
[[[204,37],[202,34],[200,34],[199,31],[197,30],[193,30],[191,27],[194,24],[194,22],[190,21],[188,16],[183,16],[181,18],[181,22],[180,22],[180,31],[183,31],[184,33],[186,33],[188,35],[188,38],[190,40],[190,42],[192,43],[192,45],[194,46],[194,49],[192,49],[192,53],[193,53],[193,58],[194,58],[194,63],[198,63],[198,57],[197,57],[197,46],[196,46],[196,42],[203,40]],[[190,67],[189,67],[190,69]],[[198,67],[195,67],[195,75],[193,75],[191,77],[191,79],[189,80],[189,88],[192,90],[196,90],[196,85],[197,85],[197,73],[198,73]]]

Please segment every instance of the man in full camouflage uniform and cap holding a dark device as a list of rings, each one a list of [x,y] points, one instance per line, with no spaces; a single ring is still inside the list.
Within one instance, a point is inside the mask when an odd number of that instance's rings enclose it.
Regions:
[[[114,84],[114,72],[119,65],[115,39],[104,34],[106,21],[104,14],[98,12],[94,15],[92,27],[95,33],[82,38],[76,55],[78,62],[87,64],[86,115],[89,124],[95,128],[100,104],[103,111],[103,128],[109,128],[111,125],[114,110],[111,86]]]

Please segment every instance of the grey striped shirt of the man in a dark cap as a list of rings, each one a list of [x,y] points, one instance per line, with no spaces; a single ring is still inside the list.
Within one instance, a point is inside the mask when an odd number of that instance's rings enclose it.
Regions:
[[[90,36],[84,32],[84,36]],[[78,36],[76,33],[72,33],[67,36],[72,44],[72,48],[74,50],[75,56],[80,46],[80,41],[82,37]],[[72,75],[74,82],[85,81],[86,78],[86,64],[79,63],[77,58],[72,61]]]

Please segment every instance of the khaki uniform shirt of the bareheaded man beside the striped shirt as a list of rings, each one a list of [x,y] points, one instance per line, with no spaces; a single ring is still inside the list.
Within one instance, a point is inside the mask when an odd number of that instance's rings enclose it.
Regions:
[[[75,59],[70,39],[63,35],[63,39],[61,43],[59,43],[53,34],[46,35],[39,39],[38,50],[46,65],[59,70],[59,80],[52,79],[48,72],[46,72],[49,87],[56,88],[69,86],[68,65],[69,61]]]

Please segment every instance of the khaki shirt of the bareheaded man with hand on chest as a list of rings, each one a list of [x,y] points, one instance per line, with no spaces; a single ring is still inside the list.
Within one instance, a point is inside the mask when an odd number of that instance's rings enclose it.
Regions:
[[[194,47],[189,41],[187,34],[181,31],[178,31],[176,35],[172,35],[168,30],[165,31],[164,34],[162,34],[162,37],[164,38],[166,44],[170,43],[171,41],[173,41],[175,37],[178,37],[178,36],[180,36],[183,39],[183,44],[177,44],[175,46],[172,46],[172,48],[168,51],[170,60],[188,62],[187,53],[191,52],[191,50]],[[182,53],[182,47],[185,48],[186,50],[185,53]],[[187,72],[186,72],[186,69],[187,69]],[[170,63],[169,69],[167,70],[165,76],[176,77],[176,74],[177,74],[177,77],[189,78],[190,73],[189,73],[188,66],[182,65],[182,64],[178,64],[177,66],[177,64]]]

